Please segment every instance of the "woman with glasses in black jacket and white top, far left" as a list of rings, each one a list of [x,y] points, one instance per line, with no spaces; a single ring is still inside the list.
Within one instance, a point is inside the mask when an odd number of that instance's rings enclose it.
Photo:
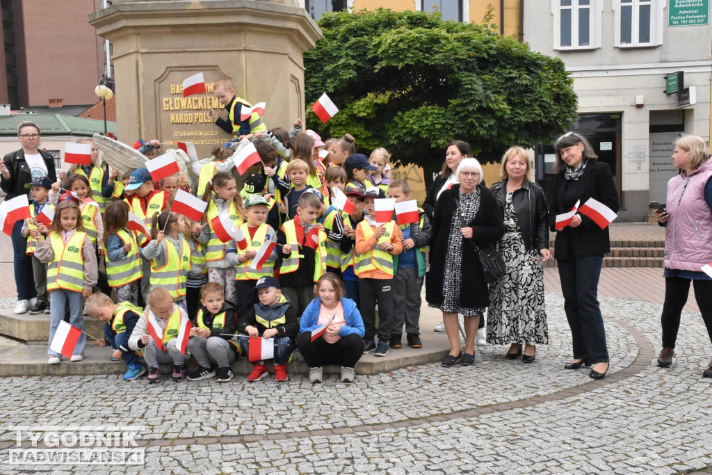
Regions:
[[[28,194],[29,184],[34,178],[49,177],[52,183],[57,181],[52,156],[44,150],[39,150],[40,128],[37,124],[20,122],[17,135],[22,148],[5,155],[0,163],[0,188],[7,194],[6,201]],[[17,305],[14,311],[16,315],[26,313],[37,300],[33,274],[28,271],[32,269],[32,261],[31,257],[25,254],[27,238],[22,235],[22,222],[23,220],[16,221],[11,234],[17,287]]]

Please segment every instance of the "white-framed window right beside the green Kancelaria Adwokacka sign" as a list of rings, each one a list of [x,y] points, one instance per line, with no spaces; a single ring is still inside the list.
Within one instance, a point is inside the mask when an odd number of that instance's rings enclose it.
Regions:
[[[613,0],[615,46],[661,45],[664,8],[660,0]]]

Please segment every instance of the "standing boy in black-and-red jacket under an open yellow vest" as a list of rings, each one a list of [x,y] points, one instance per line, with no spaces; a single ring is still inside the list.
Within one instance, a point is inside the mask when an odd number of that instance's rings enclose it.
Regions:
[[[314,298],[314,283],[326,271],[326,233],[316,221],[321,212],[318,190],[308,189],[299,198],[297,215],[277,234],[282,257],[279,281],[298,315]]]

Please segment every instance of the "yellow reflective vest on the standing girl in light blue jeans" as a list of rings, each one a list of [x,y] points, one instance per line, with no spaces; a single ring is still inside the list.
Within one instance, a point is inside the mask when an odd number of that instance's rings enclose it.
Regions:
[[[47,266],[47,290],[63,288],[67,291],[84,290],[84,257],[82,247],[86,233],[76,231],[64,244],[62,236],[56,232],[49,235],[54,259]]]

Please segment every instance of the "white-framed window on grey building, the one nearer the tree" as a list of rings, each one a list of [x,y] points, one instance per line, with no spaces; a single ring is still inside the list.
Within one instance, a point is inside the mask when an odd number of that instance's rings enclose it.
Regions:
[[[602,9],[602,0],[551,0],[554,49],[600,48]]]

